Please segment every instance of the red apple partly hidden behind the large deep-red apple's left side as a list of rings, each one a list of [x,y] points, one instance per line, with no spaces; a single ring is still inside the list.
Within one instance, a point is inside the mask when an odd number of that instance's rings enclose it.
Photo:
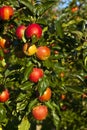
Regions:
[[[22,39],[22,37],[24,36],[25,29],[26,27],[24,25],[20,25],[17,27],[16,36],[18,37],[18,39]]]

